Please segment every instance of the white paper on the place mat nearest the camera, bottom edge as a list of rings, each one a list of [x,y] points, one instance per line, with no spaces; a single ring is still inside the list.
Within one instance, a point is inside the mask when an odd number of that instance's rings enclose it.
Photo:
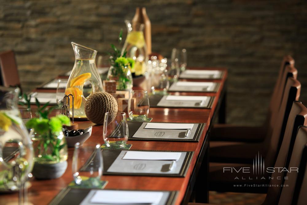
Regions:
[[[163,192],[97,190],[91,203],[107,204],[158,204]]]

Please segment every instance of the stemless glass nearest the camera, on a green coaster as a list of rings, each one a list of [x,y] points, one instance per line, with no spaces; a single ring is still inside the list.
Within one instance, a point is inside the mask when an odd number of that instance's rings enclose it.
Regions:
[[[80,146],[75,144],[72,158],[72,174],[77,185],[84,187],[99,187],[103,172],[103,158],[101,145],[86,143]]]

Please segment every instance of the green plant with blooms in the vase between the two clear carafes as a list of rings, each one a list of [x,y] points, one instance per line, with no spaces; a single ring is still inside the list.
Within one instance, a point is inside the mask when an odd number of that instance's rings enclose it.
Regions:
[[[122,43],[122,30],[119,33],[118,37],[119,44]],[[114,67],[112,69],[112,76],[116,77],[117,80],[117,89],[125,90],[127,89],[126,83],[130,82],[130,79],[127,78],[127,72],[130,70],[133,71],[134,68],[134,60],[132,58],[126,57],[126,50],[122,53],[120,49],[116,48],[114,44],[111,44],[112,53],[108,53],[110,55],[110,64]],[[111,79],[108,79],[111,80]]]

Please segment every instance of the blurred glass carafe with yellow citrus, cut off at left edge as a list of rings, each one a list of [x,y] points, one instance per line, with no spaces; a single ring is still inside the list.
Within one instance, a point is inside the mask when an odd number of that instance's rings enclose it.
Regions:
[[[19,188],[18,203],[25,204],[25,182],[32,176],[34,164],[33,146],[32,133],[25,128],[17,108],[18,93],[18,88],[0,87],[0,178],[14,182]]]

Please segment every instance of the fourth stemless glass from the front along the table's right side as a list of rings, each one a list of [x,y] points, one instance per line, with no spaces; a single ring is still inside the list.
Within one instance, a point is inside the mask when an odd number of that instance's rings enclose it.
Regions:
[[[151,86],[150,90],[153,94],[163,94],[167,93],[169,89],[169,79],[167,70],[155,70],[151,73],[150,78]]]

